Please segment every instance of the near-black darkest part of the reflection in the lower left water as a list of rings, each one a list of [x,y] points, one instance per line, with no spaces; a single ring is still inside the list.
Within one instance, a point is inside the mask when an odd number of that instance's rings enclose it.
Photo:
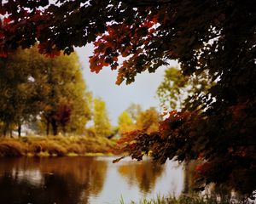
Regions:
[[[73,188],[75,187],[75,188]],[[82,184],[77,184],[73,178],[67,179],[59,175],[47,175],[44,185],[34,186],[26,179],[17,180],[5,173],[0,178],[1,203],[63,203],[79,202]],[[85,202],[86,203],[86,202]]]

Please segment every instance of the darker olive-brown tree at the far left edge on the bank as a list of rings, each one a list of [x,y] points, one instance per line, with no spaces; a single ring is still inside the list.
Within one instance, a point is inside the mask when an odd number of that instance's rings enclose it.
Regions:
[[[21,125],[32,120],[42,110],[44,94],[37,75],[28,64],[27,50],[17,50],[15,54],[2,59],[0,77],[0,116],[3,134],[17,127],[20,135]],[[42,58],[42,56],[40,56]]]

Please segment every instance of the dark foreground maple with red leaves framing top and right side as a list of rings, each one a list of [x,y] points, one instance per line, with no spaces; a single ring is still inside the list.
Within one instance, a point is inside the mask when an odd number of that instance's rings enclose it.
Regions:
[[[133,82],[137,73],[153,72],[170,59],[177,59],[184,76],[207,71],[208,80],[217,84],[199,100],[192,98],[189,110],[171,112],[159,133],[134,133],[130,152],[148,152],[142,151],[143,140],[151,139],[147,150],[157,153],[161,148],[155,147],[166,147],[164,154],[154,154],[156,160],[201,159],[197,172],[202,186],[227,184],[248,194],[256,189],[254,1],[48,3],[2,3],[0,13],[9,14],[0,30],[2,56],[37,41],[39,52],[50,56],[95,41],[91,71],[108,65],[118,69],[118,84]],[[125,57],[121,65],[119,56]]]

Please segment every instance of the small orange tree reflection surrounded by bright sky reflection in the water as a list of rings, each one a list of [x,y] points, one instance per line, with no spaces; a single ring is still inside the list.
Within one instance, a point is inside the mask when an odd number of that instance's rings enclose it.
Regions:
[[[163,172],[163,166],[152,161],[132,162],[121,164],[119,173],[125,177],[129,184],[136,181],[140,190],[148,193],[155,186],[156,179]]]

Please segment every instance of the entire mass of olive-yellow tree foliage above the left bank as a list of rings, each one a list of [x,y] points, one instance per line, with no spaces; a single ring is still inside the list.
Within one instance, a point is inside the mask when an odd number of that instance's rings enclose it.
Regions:
[[[46,59],[37,48],[18,49],[2,59],[0,69],[3,132],[40,116],[48,129],[51,123],[55,134],[58,126],[63,133],[83,133],[91,96],[76,54]]]

